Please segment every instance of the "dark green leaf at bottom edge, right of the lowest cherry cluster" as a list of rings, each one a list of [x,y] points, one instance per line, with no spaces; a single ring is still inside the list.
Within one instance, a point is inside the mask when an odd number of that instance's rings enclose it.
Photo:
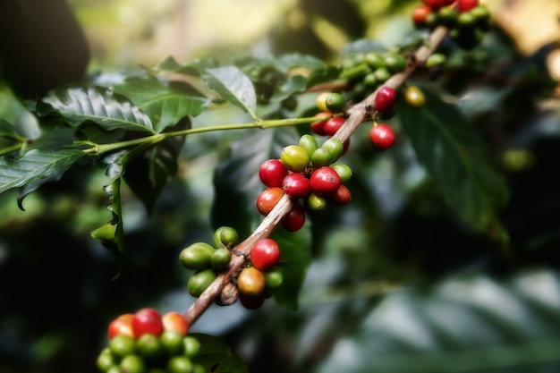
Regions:
[[[200,352],[193,358],[195,364],[212,373],[249,373],[249,369],[232,347],[223,339],[202,333],[190,333],[200,343]]]

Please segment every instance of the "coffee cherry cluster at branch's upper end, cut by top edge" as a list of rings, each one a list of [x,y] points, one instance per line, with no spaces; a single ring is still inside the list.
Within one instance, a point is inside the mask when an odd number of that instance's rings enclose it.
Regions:
[[[412,21],[419,29],[443,25],[449,36],[463,49],[479,45],[490,27],[488,8],[479,0],[423,0],[412,12]]]

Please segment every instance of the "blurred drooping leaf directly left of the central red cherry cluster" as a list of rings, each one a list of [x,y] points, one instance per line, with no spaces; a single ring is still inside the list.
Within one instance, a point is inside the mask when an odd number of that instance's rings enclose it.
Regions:
[[[298,139],[293,128],[277,128],[249,130],[233,143],[229,156],[214,173],[212,221],[216,228],[233,226],[247,236],[260,224],[263,216],[255,203],[265,186],[259,179],[259,166],[268,158],[280,157],[282,148]]]

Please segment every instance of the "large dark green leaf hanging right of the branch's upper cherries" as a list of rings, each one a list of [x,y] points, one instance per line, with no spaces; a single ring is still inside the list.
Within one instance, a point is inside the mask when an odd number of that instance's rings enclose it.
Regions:
[[[496,216],[509,199],[505,177],[459,107],[426,89],[424,93],[426,105],[420,110],[399,103],[403,130],[449,207],[474,228],[487,230],[496,225]]]

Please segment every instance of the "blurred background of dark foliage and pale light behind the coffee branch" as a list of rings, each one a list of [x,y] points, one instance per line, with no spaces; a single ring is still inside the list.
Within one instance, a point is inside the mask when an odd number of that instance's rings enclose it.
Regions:
[[[1,6],[9,3],[16,2]],[[87,72],[106,80],[168,55],[227,63],[299,51],[338,64],[340,49],[357,38],[400,42],[412,32],[410,13],[418,3],[68,1],[89,47],[81,51]],[[492,145],[512,191],[500,216],[509,246],[457,221],[406,140],[373,154],[367,133],[359,130],[345,156],[355,175],[349,185],[354,202],[313,222],[315,259],[300,309],[273,301],[257,311],[216,307],[194,329],[223,336],[253,372],[560,371],[554,81],[560,76],[560,4],[483,3],[496,17],[496,30],[478,55],[454,56],[470,69],[444,75],[429,88],[457,102]],[[45,4],[52,6],[39,18],[56,27],[48,10],[56,12],[64,2]],[[34,118],[8,86],[17,74],[5,50],[19,25],[1,23],[0,118],[33,131]],[[56,68],[80,53],[60,41],[52,46],[58,49],[46,55],[23,55],[39,72],[47,62]],[[236,115],[221,108],[194,118],[193,126],[242,119]],[[213,206],[208,186],[239,135],[187,139],[180,172],[151,216],[123,189],[122,268],[89,236],[108,219],[103,170],[74,167],[61,182],[28,196],[25,211],[13,191],[1,194],[0,371],[94,372],[112,318],[146,306],[187,309],[189,273],[178,253],[191,242],[211,240],[211,212],[220,206]]]

